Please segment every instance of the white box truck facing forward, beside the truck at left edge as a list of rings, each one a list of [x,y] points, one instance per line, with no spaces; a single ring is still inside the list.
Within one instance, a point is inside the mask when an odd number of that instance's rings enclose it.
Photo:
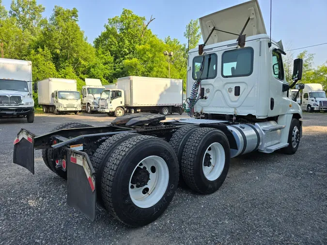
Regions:
[[[47,78],[37,82],[38,102],[45,113],[55,114],[81,110],[80,93],[74,79]]]

